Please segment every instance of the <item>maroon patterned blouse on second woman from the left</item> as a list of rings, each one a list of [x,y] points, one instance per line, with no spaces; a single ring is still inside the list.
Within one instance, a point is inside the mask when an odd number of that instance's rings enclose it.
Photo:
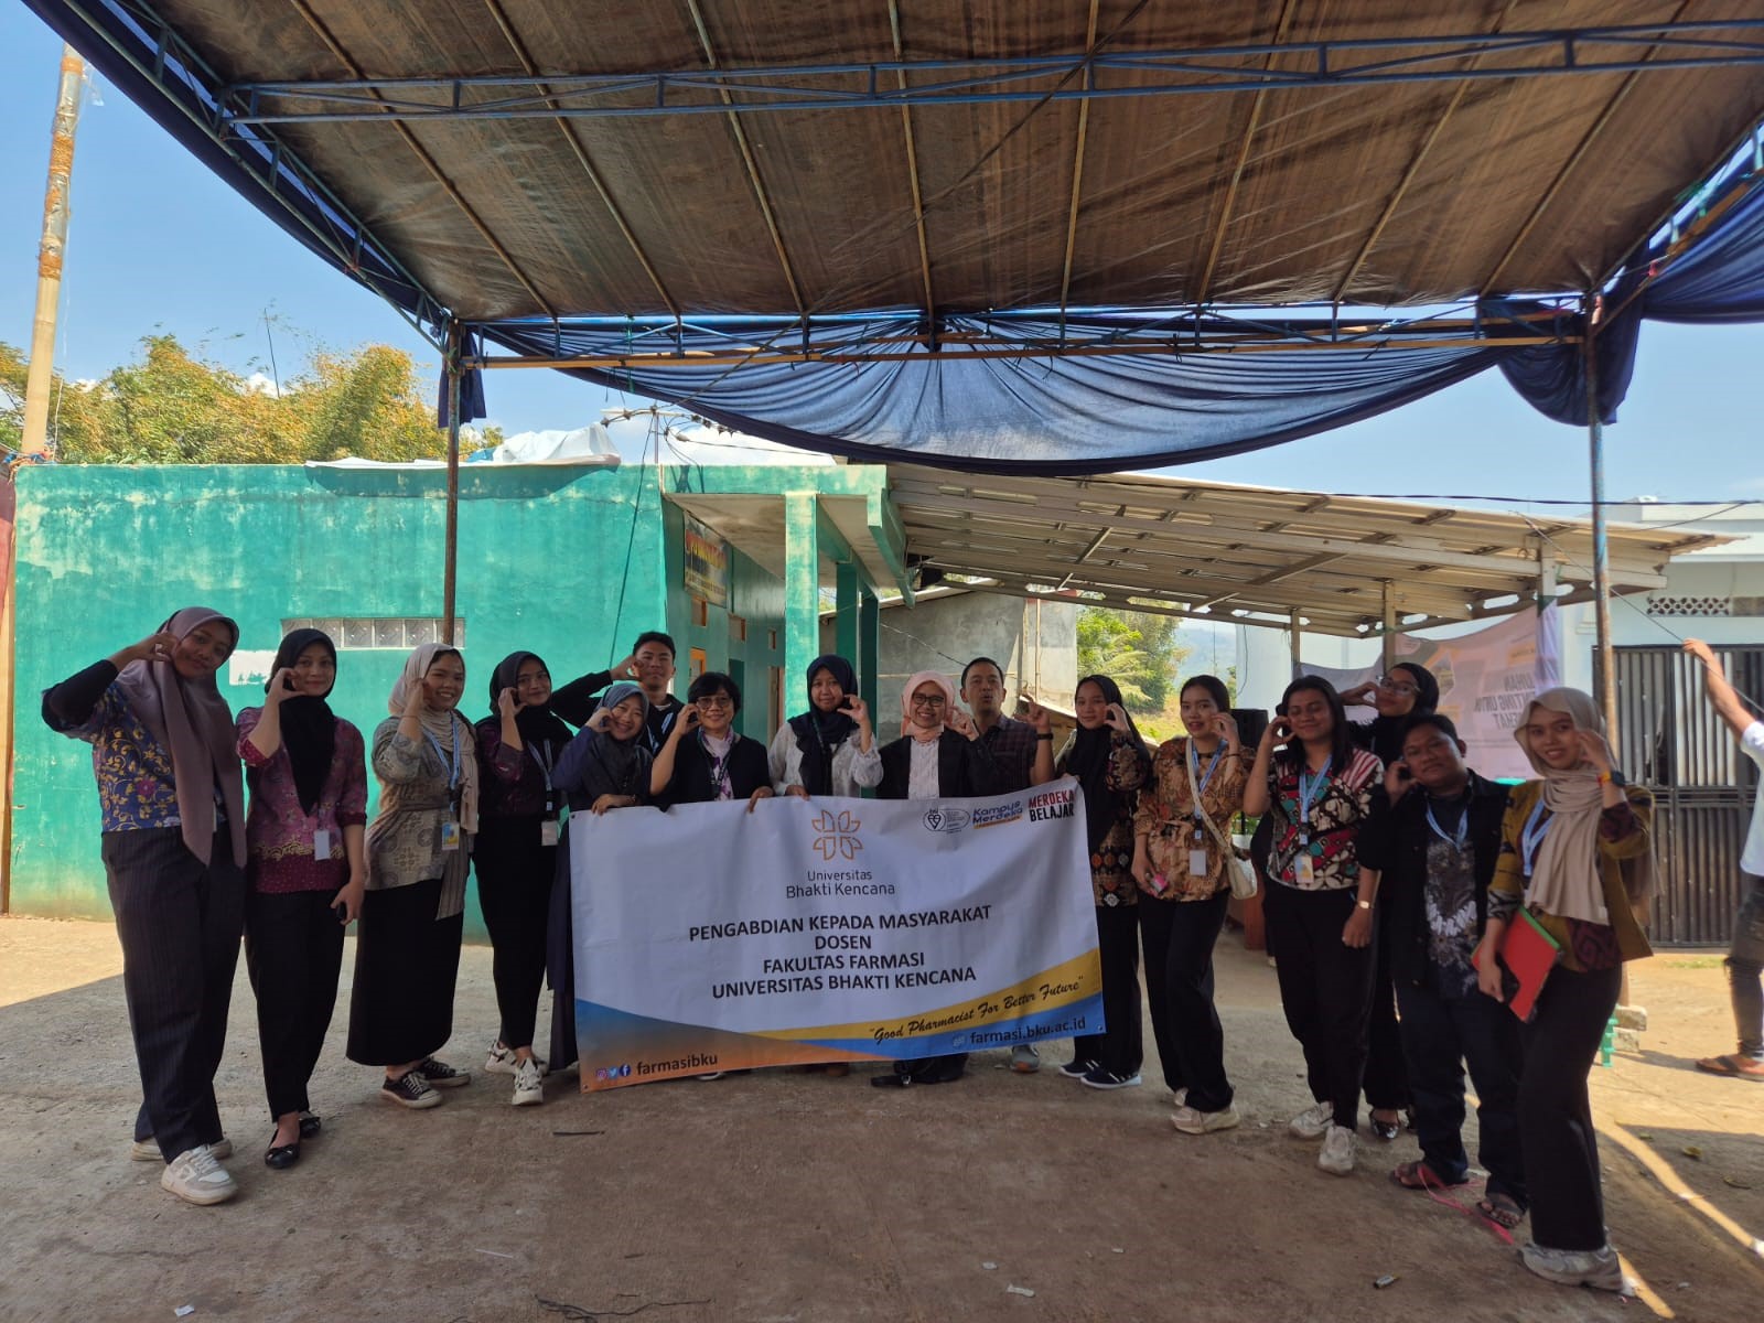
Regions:
[[[312,815],[300,806],[295,766],[288,744],[265,757],[250,743],[261,707],[242,707],[236,718],[238,755],[254,773],[250,811],[245,815],[245,875],[258,891],[337,891],[349,880],[349,856],[342,845],[344,827],[367,822],[367,755],[362,732],[337,720],[337,744],[332,751],[325,789]],[[328,857],[314,857],[314,834],[328,833]]]

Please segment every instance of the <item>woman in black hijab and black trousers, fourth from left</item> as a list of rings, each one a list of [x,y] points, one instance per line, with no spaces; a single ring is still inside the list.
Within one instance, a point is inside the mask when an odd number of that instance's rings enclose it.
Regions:
[[[517,1108],[545,1101],[545,1062],[533,1055],[533,1025],[563,831],[563,790],[554,773],[572,739],[545,662],[534,653],[505,656],[490,674],[490,716],[478,721],[478,759],[490,774],[471,857],[501,1020],[483,1069],[515,1078],[510,1101]]]

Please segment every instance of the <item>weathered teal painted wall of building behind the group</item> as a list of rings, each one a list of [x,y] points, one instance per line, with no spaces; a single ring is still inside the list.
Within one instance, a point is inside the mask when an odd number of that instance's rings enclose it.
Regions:
[[[699,473],[718,489],[714,469]],[[233,616],[243,649],[273,649],[289,617],[439,616],[445,483],[439,469],[21,467],[11,908],[109,917],[90,750],[42,725],[42,688],[192,603]],[[683,672],[693,644],[713,667],[729,662],[727,612],[681,628],[679,513],[663,506],[654,469],[469,466],[459,540],[471,720],[487,713],[490,669],[517,647],[540,653],[561,683],[667,623]],[[783,644],[781,603],[781,584],[737,557],[732,605],[748,617],[743,660],[760,723],[757,676],[776,663],[767,630]],[[342,651],[337,714],[370,737],[402,663],[402,651]],[[224,670],[220,681],[235,709],[263,697]],[[475,901],[467,923],[476,928]]]

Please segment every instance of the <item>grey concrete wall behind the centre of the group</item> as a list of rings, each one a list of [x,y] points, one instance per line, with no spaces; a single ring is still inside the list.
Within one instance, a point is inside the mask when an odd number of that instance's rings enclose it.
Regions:
[[[900,691],[919,670],[938,670],[954,684],[975,656],[997,658],[1005,670],[1011,695],[1041,693],[1060,707],[1073,706],[1078,688],[1078,607],[1065,602],[1021,602],[997,593],[960,593],[919,598],[907,609],[886,605],[878,612],[877,716],[898,714]],[[820,642],[833,651],[833,621],[822,619]],[[1039,642],[1039,647],[1037,647]],[[787,677],[789,702],[801,695],[801,677]],[[794,706],[790,711],[797,711]]]

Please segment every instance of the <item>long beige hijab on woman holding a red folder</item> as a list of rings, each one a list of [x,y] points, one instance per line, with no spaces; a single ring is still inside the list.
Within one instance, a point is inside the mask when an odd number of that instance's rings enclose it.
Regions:
[[[1605,887],[1598,873],[1598,818],[1603,813],[1598,773],[1584,762],[1572,771],[1556,771],[1531,751],[1526,727],[1538,707],[1566,713],[1573,718],[1575,730],[1605,734],[1605,720],[1591,697],[1568,688],[1538,693],[1514,730],[1526,760],[1544,778],[1544,806],[1551,813],[1549,831],[1531,864],[1526,903],[1563,919],[1609,924],[1611,910],[1605,908]],[[1648,894],[1653,889],[1653,850],[1625,861],[1623,873],[1632,898]]]

